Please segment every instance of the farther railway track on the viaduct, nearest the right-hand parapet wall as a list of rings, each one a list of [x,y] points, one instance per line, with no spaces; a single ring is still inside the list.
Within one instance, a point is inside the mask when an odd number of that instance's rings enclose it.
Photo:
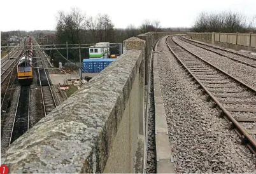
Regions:
[[[190,41],[184,37],[178,37],[181,41],[184,41],[186,43],[192,44],[194,46],[197,46],[199,48],[203,48],[204,50],[211,51],[213,53],[216,53],[217,55],[221,55],[223,57],[227,57],[235,62],[239,62],[241,64],[248,65],[250,67],[256,68],[256,58],[248,57],[246,55],[242,55],[233,51],[225,50],[222,48],[218,48],[215,46],[210,46],[208,44],[203,43],[197,43],[195,41]]]

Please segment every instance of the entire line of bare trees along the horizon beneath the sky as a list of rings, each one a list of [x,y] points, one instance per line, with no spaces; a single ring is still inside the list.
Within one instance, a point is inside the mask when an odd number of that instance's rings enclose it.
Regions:
[[[139,27],[133,24],[124,29],[116,28],[108,14],[99,13],[96,17],[90,17],[78,8],[71,8],[69,13],[59,11],[55,30],[34,30],[31,32],[11,31],[1,32],[1,38],[12,35],[52,34],[51,41],[54,44],[79,44],[79,43],[122,43],[125,39],[138,36],[146,32],[256,32],[256,15],[248,20],[245,15],[232,12],[223,13],[199,13],[192,28],[176,27],[163,28],[160,21],[144,20]],[[54,33],[54,34],[53,34]],[[1,43],[2,43],[1,39]],[[2,45],[3,46],[3,45]],[[59,50],[66,57],[66,50]],[[115,53],[117,50],[111,50]],[[57,51],[46,51],[53,58],[53,64],[66,62]],[[81,50],[82,58],[89,57],[89,50]],[[69,60],[79,62],[79,50],[69,50]]]

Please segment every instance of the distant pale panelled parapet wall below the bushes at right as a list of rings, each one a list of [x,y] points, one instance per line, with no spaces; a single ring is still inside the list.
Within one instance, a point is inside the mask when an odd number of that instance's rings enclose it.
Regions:
[[[222,32],[187,32],[187,37],[216,44],[234,50],[248,50],[256,52],[256,34],[250,33],[222,33]]]

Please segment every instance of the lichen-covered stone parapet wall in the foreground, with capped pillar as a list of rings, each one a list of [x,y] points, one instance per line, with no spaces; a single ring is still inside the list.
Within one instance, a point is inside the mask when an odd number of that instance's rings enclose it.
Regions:
[[[142,173],[149,62],[160,37],[124,41],[124,54],[18,138],[1,156],[10,173]]]

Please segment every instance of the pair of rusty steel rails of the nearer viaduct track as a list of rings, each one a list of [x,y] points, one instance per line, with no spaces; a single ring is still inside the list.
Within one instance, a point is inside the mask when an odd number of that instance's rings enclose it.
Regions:
[[[227,111],[224,108],[224,106],[222,104],[220,104],[220,102],[218,102],[217,98],[215,98],[213,96],[213,94],[206,88],[206,86],[204,86],[204,84],[201,83],[201,81],[199,79],[197,79],[197,77],[188,69],[188,67],[183,63],[183,61],[180,60],[180,58],[178,58],[178,56],[174,53],[174,51],[171,49],[171,47],[167,43],[167,38],[168,37],[166,37],[166,44],[167,44],[167,47],[169,48],[169,50],[171,51],[171,53],[173,53],[174,57],[180,62],[180,64],[183,67],[185,67],[185,69],[189,72],[189,74],[203,88],[203,90],[206,91],[206,93],[208,94],[208,101],[211,98],[211,100],[213,100],[213,102],[215,102],[215,104],[218,105],[218,107],[222,110],[221,113],[225,114],[224,118],[229,123],[229,129],[235,129],[236,133],[238,133],[239,137],[242,139],[241,140],[241,144],[243,144],[243,145],[246,144],[248,146],[248,148],[250,149],[250,151],[252,151],[253,154],[256,154],[256,142],[255,142],[255,140],[247,133],[247,131],[245,131],[245,129],[241,126],[241,124],[239,124],[238,121],[236,121],[236,119],[234,119],[234,117],[231,116],[231,113],[229,111]],[[172,38],[172,40],[173,40],[173,38]],[[174,40],[173,40],[173,42],[176,43],[176,41],[174,41]],[[206,62],[206,64],[210,65],[211,67],[214,67],[215,69],[220,70],[217,67],[215,67],[214,65],[212,65],[209,62],[207,62],[206,60],[204,60],[203,58],[195,55],[194,53],[192,53],[190,51],[188,51],[186,48],[184,48],[183,46],[179,45],[178,43],[176,43],[176,44],[178,46],[180,46],[181,48],[183,48],[183,50],[186,50],[191,55],[194,55],[195,57],[199,58],[199,60],[203,60],[203,62]],[[248,88],[251,91],[256,93],[255,89],[251,88],[250,86],[247,86],[245,83],[243,83],[243,82],[239,81],[238,79],[232,77],[231,75],[227,74],[223,70],[220,70],[220,72],[224,73],[226,76],[231,77],[231,79],[234,79],[235,81],[239,82],[240,84],[243,84],[243,86],[246,86],[246,88]]]

